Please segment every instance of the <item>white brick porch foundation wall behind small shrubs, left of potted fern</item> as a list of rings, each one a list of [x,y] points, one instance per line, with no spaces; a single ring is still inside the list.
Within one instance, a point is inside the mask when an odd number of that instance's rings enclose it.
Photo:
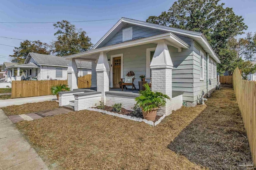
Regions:
[[[113,104],[122,103],[122,107],[127,110],[132,110],[132,107],[136,104],[134,97],[129,96],[115,96],[111,94],[106,95],[106,105],[112,106]]]

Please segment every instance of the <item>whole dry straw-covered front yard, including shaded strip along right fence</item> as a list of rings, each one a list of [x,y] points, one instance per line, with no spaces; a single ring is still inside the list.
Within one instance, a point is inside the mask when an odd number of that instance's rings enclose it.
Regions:
[[[156,127],[95,111],[16,126],[56,169],[242,169],[250,149],[234,91],[182,107]]]

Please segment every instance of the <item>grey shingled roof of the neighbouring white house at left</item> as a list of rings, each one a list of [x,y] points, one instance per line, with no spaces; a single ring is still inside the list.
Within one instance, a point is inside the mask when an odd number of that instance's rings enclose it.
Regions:
[[[38,65],[68,67],[68,63],[69,63],[69,60],[64,59],[63,57],[38,54],[38,53],[29,53],[24,64],[28,63],[31,57],[34,59],[34,61],[36,61]],[[78,68],[92,68],[92,62],[88,62],[88,61],[76,60],[76,65]]]

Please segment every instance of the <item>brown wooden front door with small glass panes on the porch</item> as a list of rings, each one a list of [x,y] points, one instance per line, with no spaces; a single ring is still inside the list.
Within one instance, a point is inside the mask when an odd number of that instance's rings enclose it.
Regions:
[[[121,78],[121,57],[113,58],[113,87],[119,88]]]

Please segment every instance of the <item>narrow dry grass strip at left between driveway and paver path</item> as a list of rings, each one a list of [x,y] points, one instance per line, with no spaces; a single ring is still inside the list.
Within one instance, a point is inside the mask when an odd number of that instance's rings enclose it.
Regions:
[[[59,104],[56,101],[44,101],[37,103],[27,103],[22,105],[12,105],[2,107],[1,109],[6,115],[20,115],[43,110],[52,110],[56,108],[59,108]]]

